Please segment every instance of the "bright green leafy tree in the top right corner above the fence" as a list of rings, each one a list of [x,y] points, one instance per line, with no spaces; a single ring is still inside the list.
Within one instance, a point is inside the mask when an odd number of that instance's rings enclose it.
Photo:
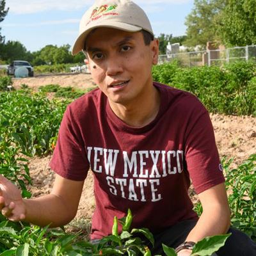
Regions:
[[[216,31],[230,47],[256,44],[255,0],[229,0],[216,19]]]

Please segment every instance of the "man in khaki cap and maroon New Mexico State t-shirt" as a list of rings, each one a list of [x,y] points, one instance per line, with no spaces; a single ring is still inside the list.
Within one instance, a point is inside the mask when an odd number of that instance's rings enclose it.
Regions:
[[[230,210],[209,115],[190,93],[153,83],[158,46],[147,16],[132,1],[97,1],[84,14],[72,52],[85,52],[99,89],[65,112],[50,195],[22,200],[1,177],[0,209],[9,220],[65,225],[76,216],[91,168],[92,240],[110,234],[113,216],[121,218],[128,208],[133,227],[153,232],[155,253],[163,253],[164,243],[190,255],[197,241],[228,231]],[[190,179],[204,210],[199,219],[188,196]],[[248,237],[228,232],[218,255],[256,255]]]

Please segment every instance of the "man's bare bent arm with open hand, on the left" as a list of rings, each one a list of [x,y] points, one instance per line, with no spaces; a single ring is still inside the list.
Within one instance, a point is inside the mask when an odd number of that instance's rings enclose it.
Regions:
[[[3,177],[0,184],[0,210],[9,220],[24,220],[39,226],[51,223],[51,227],[58,227],[76,216],[84,181],[56,174],[51,194],[33,199],[22,199],[19,190]]]

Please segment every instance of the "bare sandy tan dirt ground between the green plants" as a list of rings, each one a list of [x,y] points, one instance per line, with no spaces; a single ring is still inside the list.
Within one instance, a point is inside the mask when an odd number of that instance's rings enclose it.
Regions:
[[[13,79],[13,86],[15,88],[19,88],[20,84],[28,84],[30,88],[35,90],[45,84],[60,84],[61,86],[73,86],[76,88],[90,88],[95,86],[90,74]],[[220,157],[227,156],[228,159],[234,157],[233,167],[242,163],[251,154],[256,153],[256,118],[252,116],[211,115],[211,120]],[[31,177],[33,179],[33,186],[29,189],[33,193],[33,196],[42,195],[51,191],[54,173],[51,172],[48,166],[50,159],[51,156],[44,158],[35,157],[29,163]],[[92,173],[89,173],[84,183],[81,202],[76,219],[74,220],[76,221],[76,225],[77,223],[81,223],[81,221],[90,220],[93,209],[93,177]]]

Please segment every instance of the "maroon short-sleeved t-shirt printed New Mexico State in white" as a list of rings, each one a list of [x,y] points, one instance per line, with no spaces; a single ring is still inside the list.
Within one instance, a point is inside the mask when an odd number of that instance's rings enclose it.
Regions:
[[[224,182],[207,110],[191,93],[154,86],[161,106],[144,127],[120,120],[99,89],[65,111],[50,166],[71,180],[84,180],[92,169],[92,239],[111,234],[113,217],[122,218],[128,208],[132,227],[151,232],[197,218],[188,196],[190,179],[196,193]]]

